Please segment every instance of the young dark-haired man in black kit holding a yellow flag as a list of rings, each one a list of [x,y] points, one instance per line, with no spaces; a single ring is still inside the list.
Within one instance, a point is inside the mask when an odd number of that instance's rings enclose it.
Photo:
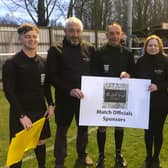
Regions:
[[[45,80],[45,61],[36,54],[39,29],[23,24],[18,28],[18,34],[22,49],[3,66],[3,89],[10,103],[10,140],[22,129],[30,129],[34,121],[43,116],[49,118],[54,113],[50,86]],[[45,140],[48,137],[50,128],[47,119],[35,149],[39,168],[45,168]],[[21,164],[20,161],[10,167],[20,168]]]

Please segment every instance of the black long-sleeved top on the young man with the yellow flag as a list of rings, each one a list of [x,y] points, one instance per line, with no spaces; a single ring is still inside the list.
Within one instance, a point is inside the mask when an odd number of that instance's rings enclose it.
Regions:
[[[12,120],[22,115],[43,116],[45,97],[48,104],[53,104],[45,73],[45,60],[38,55],[29,58],[21,51],[5,62],[3,89],[10,103]]]

